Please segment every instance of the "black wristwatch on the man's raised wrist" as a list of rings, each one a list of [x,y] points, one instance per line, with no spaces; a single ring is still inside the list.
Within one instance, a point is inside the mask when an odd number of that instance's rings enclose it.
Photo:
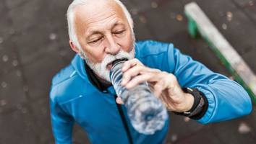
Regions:
[[[183,115],[185,117],[193,117],[196,114],[202,112],[202,108],[205,105],[205,100],[202,98],[202,93],[196,88],[183,88],[185,93],[192,94],[194,96],[194,104],[189,111],[186,112],[174,112],[174,114]]]

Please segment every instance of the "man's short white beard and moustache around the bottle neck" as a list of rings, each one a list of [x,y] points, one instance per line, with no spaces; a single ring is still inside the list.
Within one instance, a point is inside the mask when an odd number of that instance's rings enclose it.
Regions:
[[[106,55],[105,58],[102,60],[101,63],[92,63],[88,57],[85,55],[83,50],[80,50],[80,56],[85,59],[85,62],[88,64],[88,66],[95,72],[98,76],[103,78],[104,80],[110,82],[110,71],[106,68],[108,63],[111,63],[112,61],[116,59],[123,59],[126,58],[127,60],[131,60],[132,58],[135,58],[135,47],[132,48],[132,50],[127,53],[124,50],[120,50],[119,53],[116,55]]]

